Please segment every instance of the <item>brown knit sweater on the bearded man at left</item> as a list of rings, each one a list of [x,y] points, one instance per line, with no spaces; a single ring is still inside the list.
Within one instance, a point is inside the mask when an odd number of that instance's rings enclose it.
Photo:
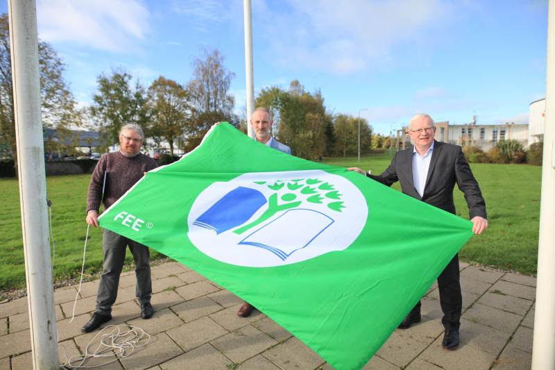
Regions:
[[[143,153],[135,157],[126,157],[119,151],[102,155],[92,172],[87,194],[87,212],[89,210],[98,212],[101,200],[104,209],[110,207],[143,177],[144,172],[156,167],[158,167],[157,162]],[[106,185],[104,197],[101,199],[104,174],[106,174]]]

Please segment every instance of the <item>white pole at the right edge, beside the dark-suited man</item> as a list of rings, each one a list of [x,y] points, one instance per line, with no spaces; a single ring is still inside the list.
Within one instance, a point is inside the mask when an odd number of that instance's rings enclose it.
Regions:
[[[555,0],[547,16],[547,85],[532,369],[555,369]]]

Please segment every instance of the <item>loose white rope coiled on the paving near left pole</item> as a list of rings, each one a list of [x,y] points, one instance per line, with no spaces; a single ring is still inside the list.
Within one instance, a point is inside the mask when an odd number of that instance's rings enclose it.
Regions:
[[[112,328],[110,333],[105,333],[108,328]],[[102,334],[102,335],[101,335]],[[96,337],[101,335],[98,346],[89,353],[89,347],[93,344]],[[87,347],[85,347],[85,354],[74,355],[70,358],[67,357],[65,346],[62,345],[64,349],[64,356],[66,362],[62,364],[62,367],[70,367],[71,369],[89,369],[92,367],[101,367],[107,364],[111,364],[119,360],[120,358],[126,358],[128,355],[135,351],[135,348],[146,346],[151,340],[151,335],[146,333],[142,328],[137,326],[126,326],[126,325],[108,325],[90,340]],[[101,364],[95,365],[85,365],[85,362],[91,358],[111,358],[110,361],[103,362]]]

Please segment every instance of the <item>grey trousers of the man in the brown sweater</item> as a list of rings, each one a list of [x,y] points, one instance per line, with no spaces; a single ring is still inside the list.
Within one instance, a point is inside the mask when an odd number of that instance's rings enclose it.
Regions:
[[[102,230],[102,250],[104,253],[103,271],[100,277],[99,292],[96,294],[96,312],[110,314],[112,305],[117,298],[119,275],[126,258],[126,247],[133,254],[135,260],[135,276],[137,288],[135,295],[141,305],[151,301],[152,281],[151,266],[148,261],[151,253],[147,246],[116,234],[110,230]]]

